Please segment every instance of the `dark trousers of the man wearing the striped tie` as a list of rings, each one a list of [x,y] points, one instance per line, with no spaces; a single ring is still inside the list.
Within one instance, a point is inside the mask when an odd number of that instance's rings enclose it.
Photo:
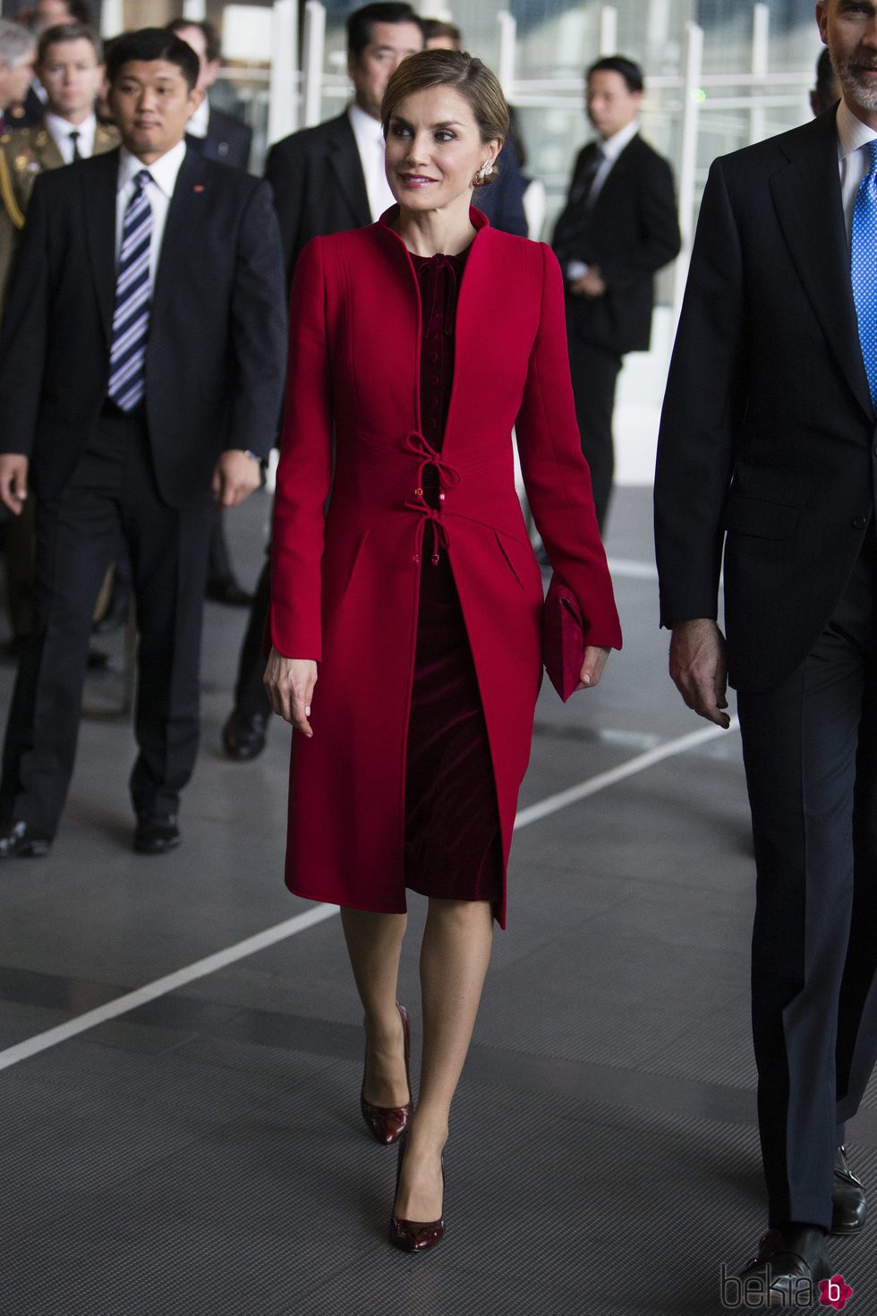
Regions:
[[[199,742],[209,504],[162,501],[146,421],[103,415],[63,491],[37,507],[34,630],[9,709],[0,807],[53,836],[74,769],[95,600],[128,547],[139,629],[137,812],[174,813]]]

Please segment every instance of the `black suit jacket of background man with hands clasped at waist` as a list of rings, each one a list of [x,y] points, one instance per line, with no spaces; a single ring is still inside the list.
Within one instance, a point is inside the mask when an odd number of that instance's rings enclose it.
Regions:
[[[600,266],[607,291],[593,300],[568,295],[569,328],[577,338],[621,357],[648,349],[655,274],[678,254],[673,174],[636,136],[589,209],[586,179],[596,150],[592,142],[579,154],[551,245],[564,274],[571,261]]]

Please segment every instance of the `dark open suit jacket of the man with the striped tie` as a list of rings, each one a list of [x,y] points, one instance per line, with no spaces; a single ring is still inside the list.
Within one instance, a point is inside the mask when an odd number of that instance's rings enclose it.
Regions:
[[[0,447],[32,459],[41,496],[70,479],[107,396],[116,296],[118,151],[42,174],[0,330]],[[227,447],[267,457],[285,366],[271,192],[187,151],[162,242],[146,412],[162,497],[210,496]]]

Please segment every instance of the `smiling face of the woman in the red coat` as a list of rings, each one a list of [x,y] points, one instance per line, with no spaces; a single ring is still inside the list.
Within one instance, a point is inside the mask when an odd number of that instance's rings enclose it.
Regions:
[[[401,100],[387,130],[387,180],[404,209],[438,211],[465,197],[481,167],[500,154],[481,141],[469,103],[452,87],[427,87]]]

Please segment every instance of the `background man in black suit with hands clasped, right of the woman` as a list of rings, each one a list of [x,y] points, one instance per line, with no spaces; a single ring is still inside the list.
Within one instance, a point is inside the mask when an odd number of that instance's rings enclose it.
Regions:
[[[601,529],[622,357],[648,350],[655,275],[680,249],[671,167],[639,136],[643,91],[642,70],[621,55],[588,70],[586,111],[598,137],[579,154],[552,238],[567,280],[572,388]]]

